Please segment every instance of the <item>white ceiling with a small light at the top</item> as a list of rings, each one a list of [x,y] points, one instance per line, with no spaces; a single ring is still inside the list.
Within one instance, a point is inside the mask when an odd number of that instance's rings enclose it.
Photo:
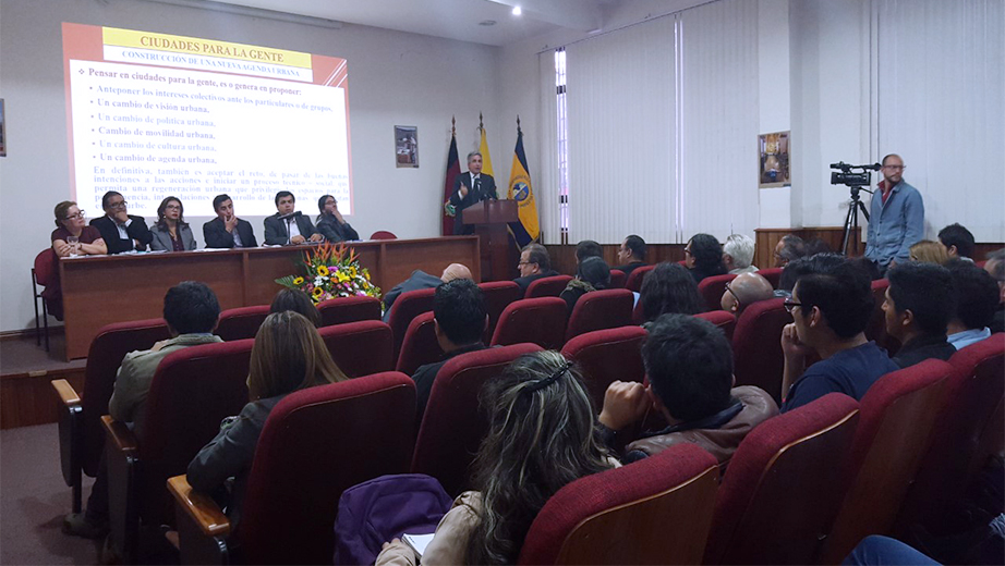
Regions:
[[[602,27],[619,0],[216,0],[399,32],[505,46],[558,29]],[[626,0],[627,1],[627,0]],[[512,15],[520,5],[523,14]],[[492,26],[480,22],[495,21]]]

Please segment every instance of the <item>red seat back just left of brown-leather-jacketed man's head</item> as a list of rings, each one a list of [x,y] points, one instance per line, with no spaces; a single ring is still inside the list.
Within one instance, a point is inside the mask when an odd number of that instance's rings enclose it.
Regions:
[[[613,381],[642,383],[645,379],[642,342],[646,334],[642,327],[597,330],[576,336],[561,348],[562,355],[576,361],[582,372],[597,413]]]

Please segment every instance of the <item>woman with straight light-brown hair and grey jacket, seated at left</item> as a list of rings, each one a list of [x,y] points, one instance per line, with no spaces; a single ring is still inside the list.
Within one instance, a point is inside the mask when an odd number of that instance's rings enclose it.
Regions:
[[[310,320],[289,310],[269,315],[252,347],[249,404],[237,417],[223,419],[220,432],[189,464],[192,489],[214,495],[226,506],[233,528],[241,518],[255,446],[273,408],[294,391],[348,379]],[[234,478],[232,487],[228,478]]]

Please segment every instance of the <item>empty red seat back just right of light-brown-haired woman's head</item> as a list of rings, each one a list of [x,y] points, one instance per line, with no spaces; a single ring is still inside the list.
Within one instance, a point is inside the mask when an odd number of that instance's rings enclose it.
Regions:
[[[391,329],[379,320],[361,320],[317,329],[331,359],[350,378],[395,369]]]

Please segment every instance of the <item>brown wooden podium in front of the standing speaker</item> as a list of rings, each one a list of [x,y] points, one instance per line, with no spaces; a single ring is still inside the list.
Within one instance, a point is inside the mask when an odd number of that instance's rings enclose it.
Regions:
[[[481,241],[482,281],[511,280],[517,273],[516,249],[510,244],[510,222],[517,222],[516,200],[483,200],[464,209],[464,224],[474,226]]]

